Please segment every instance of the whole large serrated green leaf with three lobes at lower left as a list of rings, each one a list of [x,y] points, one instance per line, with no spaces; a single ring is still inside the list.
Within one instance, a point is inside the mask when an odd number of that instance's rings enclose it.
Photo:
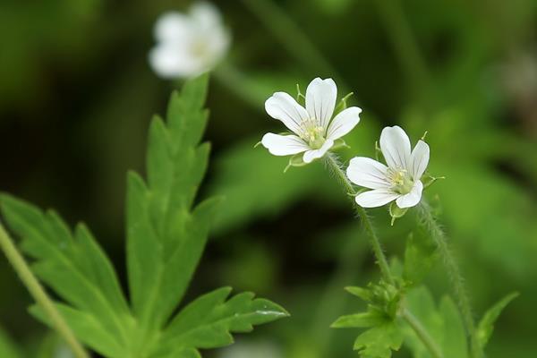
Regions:
[[[64,302],[57,303],[75,335],[99,354],[125,357],[200,357],[198,349],[233,342],[287,315],[275,303],[231,289],[205,294],[172,316],[198,265],[218,198],[194,204],[205,174],[209,145],[200,144],[208,112],[207,76],[187,82],[168,107],[166,124],[149,130],[147,183],[128,175],[127,303],[111,262],[83,224],[71,232],[54,212],[9,195],[0,197],[8,226],[35,259],[33,271]],[[47,323],[39,307],[32,313]],[[168,323],[169,322],[169,323]]]

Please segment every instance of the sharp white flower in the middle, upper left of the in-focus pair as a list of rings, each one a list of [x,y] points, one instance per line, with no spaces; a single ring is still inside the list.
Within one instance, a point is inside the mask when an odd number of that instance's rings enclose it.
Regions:
[[[322,158],[337,139],[351,132],[360,122],[362,109],[358,107],[346,108],[332,119],[336,99],[337,86],[332,79],[311,81],[306,90],[305,108],[289,94],[276,92],[265,102],[265,110],[294,134],[267,133],[261,144],[275,156],[304,152],[305,163]]]

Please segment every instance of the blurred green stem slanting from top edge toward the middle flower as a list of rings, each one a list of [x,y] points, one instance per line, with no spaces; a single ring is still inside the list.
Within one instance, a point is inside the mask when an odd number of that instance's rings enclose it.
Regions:
[[[343,81],[310,38],[277,4],[270,0],[242,1],[297,61],[310,67],[311,71],[323,72],[327,76],[333,75],[338,81]]]

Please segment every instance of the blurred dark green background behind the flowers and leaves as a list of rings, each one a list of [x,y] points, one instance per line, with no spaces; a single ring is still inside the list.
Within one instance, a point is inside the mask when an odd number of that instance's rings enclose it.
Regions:
[[[149,119],[180,81],[151,71],[152,27],[186,1],[3,0],[0,3],[0,189],[83,220],[124,269],[125,172],[143,172]],[[239,336],[209,357],[354,356],[355,330],[333,330],[360,307],[343,286],[378,278],[345,194],[320,164],[292,168],[253,149],[279,131],[263,110],[276,90],[316,76],[354,91],[362,122],[342,152],[372,155],[384,125],[413,141],[429,131],[427,192],[469,288],[476,316],[511,291],[490,357],[537,354],[537,2],[533,0],[217,1],[233,46],[213,74],[206,138],[214,145],[201,195],[226,196],[191,296],[252,290],[293,316]],[[412,218],[388,226],[390,257]],[[447,277],[427,279],[435,298]],[[30,357],[55,337],[26,309],[29,294],[0,259],[2,341]],[[51,348],[52,347],[52,348]],[[62,354],[60,352],[59,354]],[[46,357],[47,354],[42,355]],[[56,352],[56,356],[58,355]],[[397,356],[410,356],[405,348]],[[456,358],[456,357],[449,357]]]

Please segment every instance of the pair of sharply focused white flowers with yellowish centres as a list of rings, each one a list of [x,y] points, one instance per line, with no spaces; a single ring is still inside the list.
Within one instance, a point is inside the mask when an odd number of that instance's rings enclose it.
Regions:
[[[324,157],[335,141],[351,132],[360,122],[359,107],[343,109],[336,116],[337,86],[332,79],[311,81],[305,96],[305,108],[289,94],[277,92],[268,98],[268,115],[283,122],[291,133],[267,133],[262,145],[275,156],[303,153],[303,163]],[[398,126],[386,127],[380,134],[380,150],[386,165],[366,157],[351,159],[346,170],[348,179],[371,189],[356,195],[363,208],[386,205],[395,200],[400,209],[417,205],[422,199],[422,175],[429,164],[430,149],[418,141],[411,149],[405,131]]]

